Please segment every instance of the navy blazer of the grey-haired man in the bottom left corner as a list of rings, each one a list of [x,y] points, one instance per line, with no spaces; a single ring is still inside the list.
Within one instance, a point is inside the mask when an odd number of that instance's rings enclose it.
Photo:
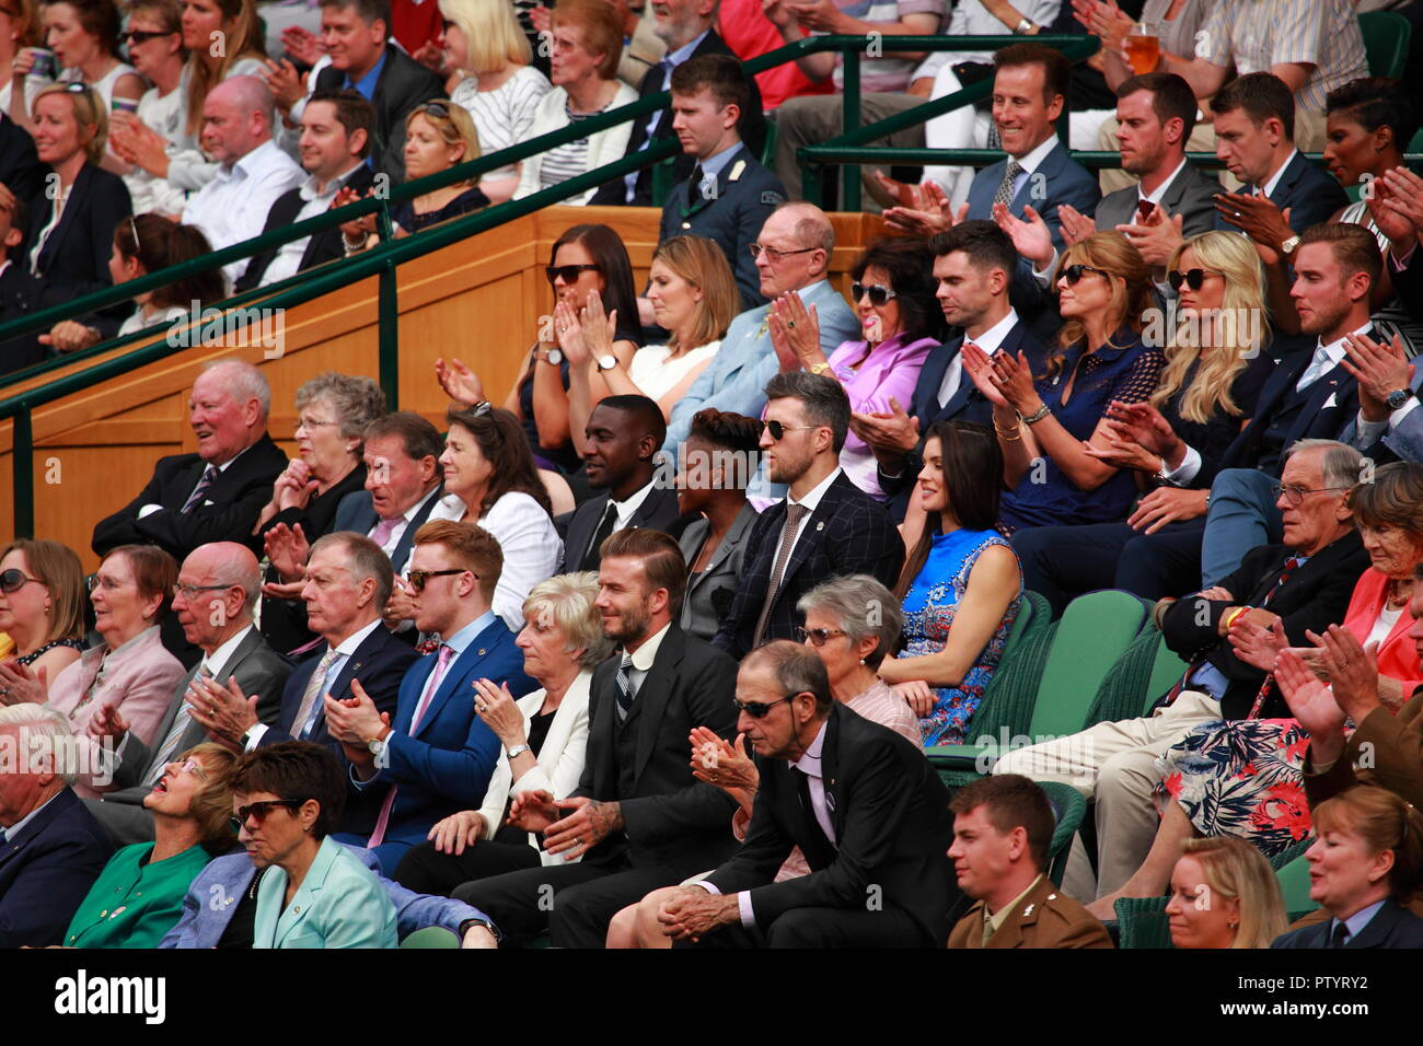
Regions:
[[[64,788],[0,844],[0,948],[44,948],[88,897],[114,844],[73,788]]]

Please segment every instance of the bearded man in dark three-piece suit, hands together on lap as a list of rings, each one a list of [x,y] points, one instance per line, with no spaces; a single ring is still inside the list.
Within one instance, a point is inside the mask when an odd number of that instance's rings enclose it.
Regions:
[[[677,542],[618,531],[603,544],[599,582],[603,632],[620,646],[593,672],[583,777],[566,800],[525,791],[511,808],[515,827],[544,833],[549,854],[581,860],[454,891],[505,939],[548,926],[555,948],[601,948],[618,911],[736,847],[736,803],[697,781],[687,759],[693,727],[730,737],[736,663],[672,623],[687,583]]]

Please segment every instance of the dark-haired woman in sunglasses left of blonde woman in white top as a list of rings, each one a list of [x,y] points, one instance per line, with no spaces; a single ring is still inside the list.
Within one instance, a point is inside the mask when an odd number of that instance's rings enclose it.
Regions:
[[[609,315],[618,315],[612,354],[626,367],[642,344],[642,332],[632,262],[622,238],[606,225],[575,225],[554,242],[545,273],[554,289],[555,307],[565,305],[581,313],[589,295],[596,292],[602,307]],[[583,433],[569,424],[569,360],[558,344],[554,327],[548,315],[538,317],[538,340],[529,347],[519,377],[504,398],[504,408],[524,426],[539,468],[572,475],[583,464],[578,453]],[[460,360],[450,360],[448,364],[443,359],[435,360],[435,377],[451,400],[467,407],[490,398],[478,374]],[[601,377],[589,379],[591,389],[599,384]]]

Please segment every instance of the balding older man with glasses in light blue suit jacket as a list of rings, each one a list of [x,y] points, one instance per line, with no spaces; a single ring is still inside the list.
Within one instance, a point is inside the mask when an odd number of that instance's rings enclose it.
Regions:
[[[861,337],[859,320],[827,278],[834,249],[835,229],[830,218],[814,204],[800,202],[776,208],[751,245],[761,293],[774,302],[791,290],[800,292],[807,309],[815,307],[820,347],[827,356],[842,342]],[[766,324],[770,309],[770,305],[747,309],[731,320],[721,349],[672,408],[667,438],[662,444],[665,451],[677,454],[692,431],[692,416],[706,407],[747,417],[761,416],[766,383],[781,370]]]

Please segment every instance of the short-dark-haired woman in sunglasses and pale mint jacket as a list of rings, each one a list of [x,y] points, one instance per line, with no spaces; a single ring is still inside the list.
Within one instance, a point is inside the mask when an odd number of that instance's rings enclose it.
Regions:
[[[396,909],[376,874],[330,837],[346,774],[320,744],[248,753],[232,776],[232,827],[258,870],[253,948],[394,948]]]

